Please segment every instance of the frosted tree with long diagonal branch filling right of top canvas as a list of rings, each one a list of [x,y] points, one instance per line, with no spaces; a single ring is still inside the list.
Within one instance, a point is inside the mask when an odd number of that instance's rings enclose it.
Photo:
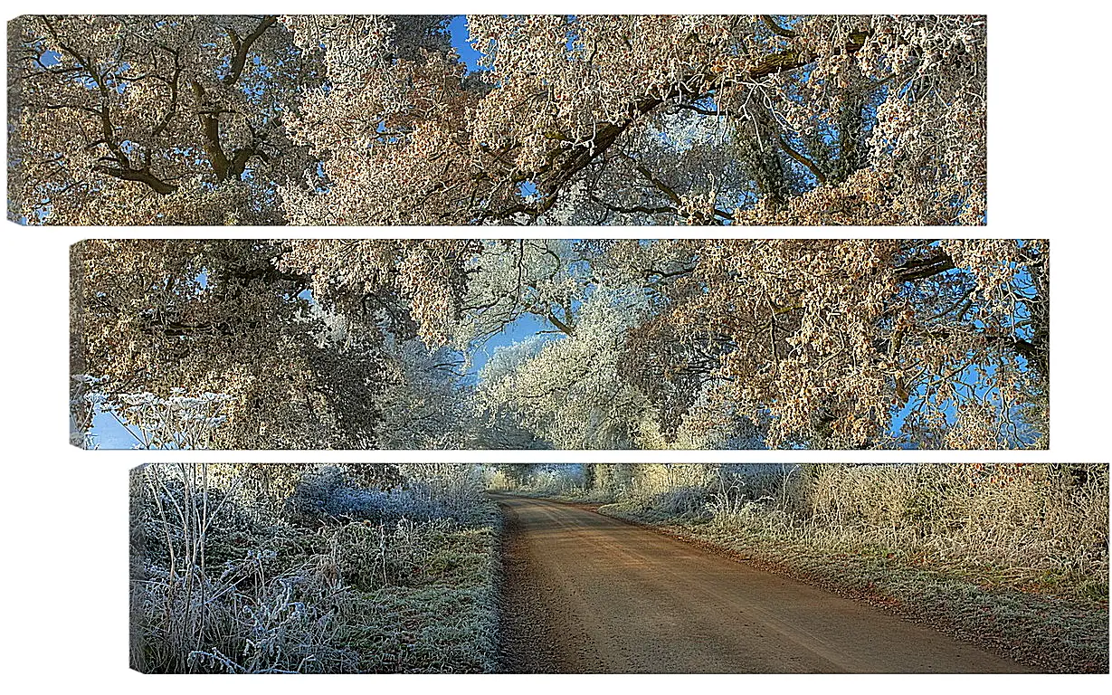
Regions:
[[[480,79],[375,26],[302,103],[294,221],[983,224],[984,18],[470,17]]]

